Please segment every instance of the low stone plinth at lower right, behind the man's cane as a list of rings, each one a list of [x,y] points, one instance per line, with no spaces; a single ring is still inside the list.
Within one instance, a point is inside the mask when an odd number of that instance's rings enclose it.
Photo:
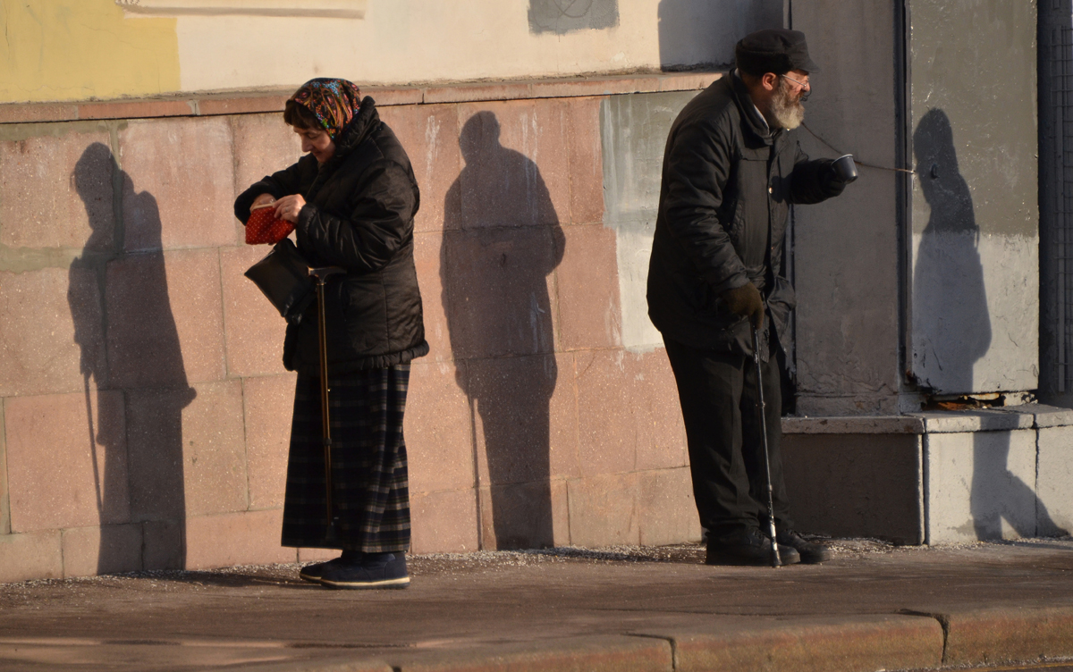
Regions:
[[[909,544],[1073,532],[1068,408],[795,417],[782,429],[802,529]]]

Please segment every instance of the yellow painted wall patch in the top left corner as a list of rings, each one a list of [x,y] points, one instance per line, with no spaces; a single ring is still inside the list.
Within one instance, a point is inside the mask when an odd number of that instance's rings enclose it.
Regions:
[[[115,0],[0,0],[0,103],[178,91],[175,26]]]

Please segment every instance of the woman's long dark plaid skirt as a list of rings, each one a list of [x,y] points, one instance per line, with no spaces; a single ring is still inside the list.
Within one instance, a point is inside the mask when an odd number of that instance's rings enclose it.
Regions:
[[[410,364],[328,375],[332,508],[328,538],[321,379],[298,374],[286,465],[282,543],[393,553],[410,547],[402,413]]]

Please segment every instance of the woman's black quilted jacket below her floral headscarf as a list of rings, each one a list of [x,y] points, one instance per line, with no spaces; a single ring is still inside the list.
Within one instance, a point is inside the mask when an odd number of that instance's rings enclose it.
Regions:
[[[371,98],[335,138],[323,165],[307,154],[246,190],[235,216],[246,222],[264,193],[302,194],[298,251],[312,267],[339,266],[325,293],[333,373],[383,369],[428,354],[413,264],[413,215],[420,196],[410,160]],[[286,328],[283,364],[319,376],[317,303]]]

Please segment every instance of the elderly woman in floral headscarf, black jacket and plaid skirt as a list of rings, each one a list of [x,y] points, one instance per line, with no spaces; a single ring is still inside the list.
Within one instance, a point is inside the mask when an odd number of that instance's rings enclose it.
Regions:
[[[428,354],[413,264],[417,183],[371,98],[343,79],[307,81],[283,120],[308,152],[235,200],[250,210],[275,203],[293,222],[311,267],[346,275],[325,287],[332,412],[332,502],[325,521],[324,452],[315,302],[289,325],[283,363],[298,372],[283,504],[283,546],[340,549],[302,569],[332,587],[406,587],[410,544],[402,412],[410,361]]]

